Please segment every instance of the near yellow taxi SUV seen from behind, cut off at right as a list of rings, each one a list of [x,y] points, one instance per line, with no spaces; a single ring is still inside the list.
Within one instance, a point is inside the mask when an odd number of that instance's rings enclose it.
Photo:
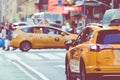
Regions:
[[[66,80],[120,76],[120,24],[87,25],[75,41],[68,40],[65,44],[69,46],[65,59]]]

